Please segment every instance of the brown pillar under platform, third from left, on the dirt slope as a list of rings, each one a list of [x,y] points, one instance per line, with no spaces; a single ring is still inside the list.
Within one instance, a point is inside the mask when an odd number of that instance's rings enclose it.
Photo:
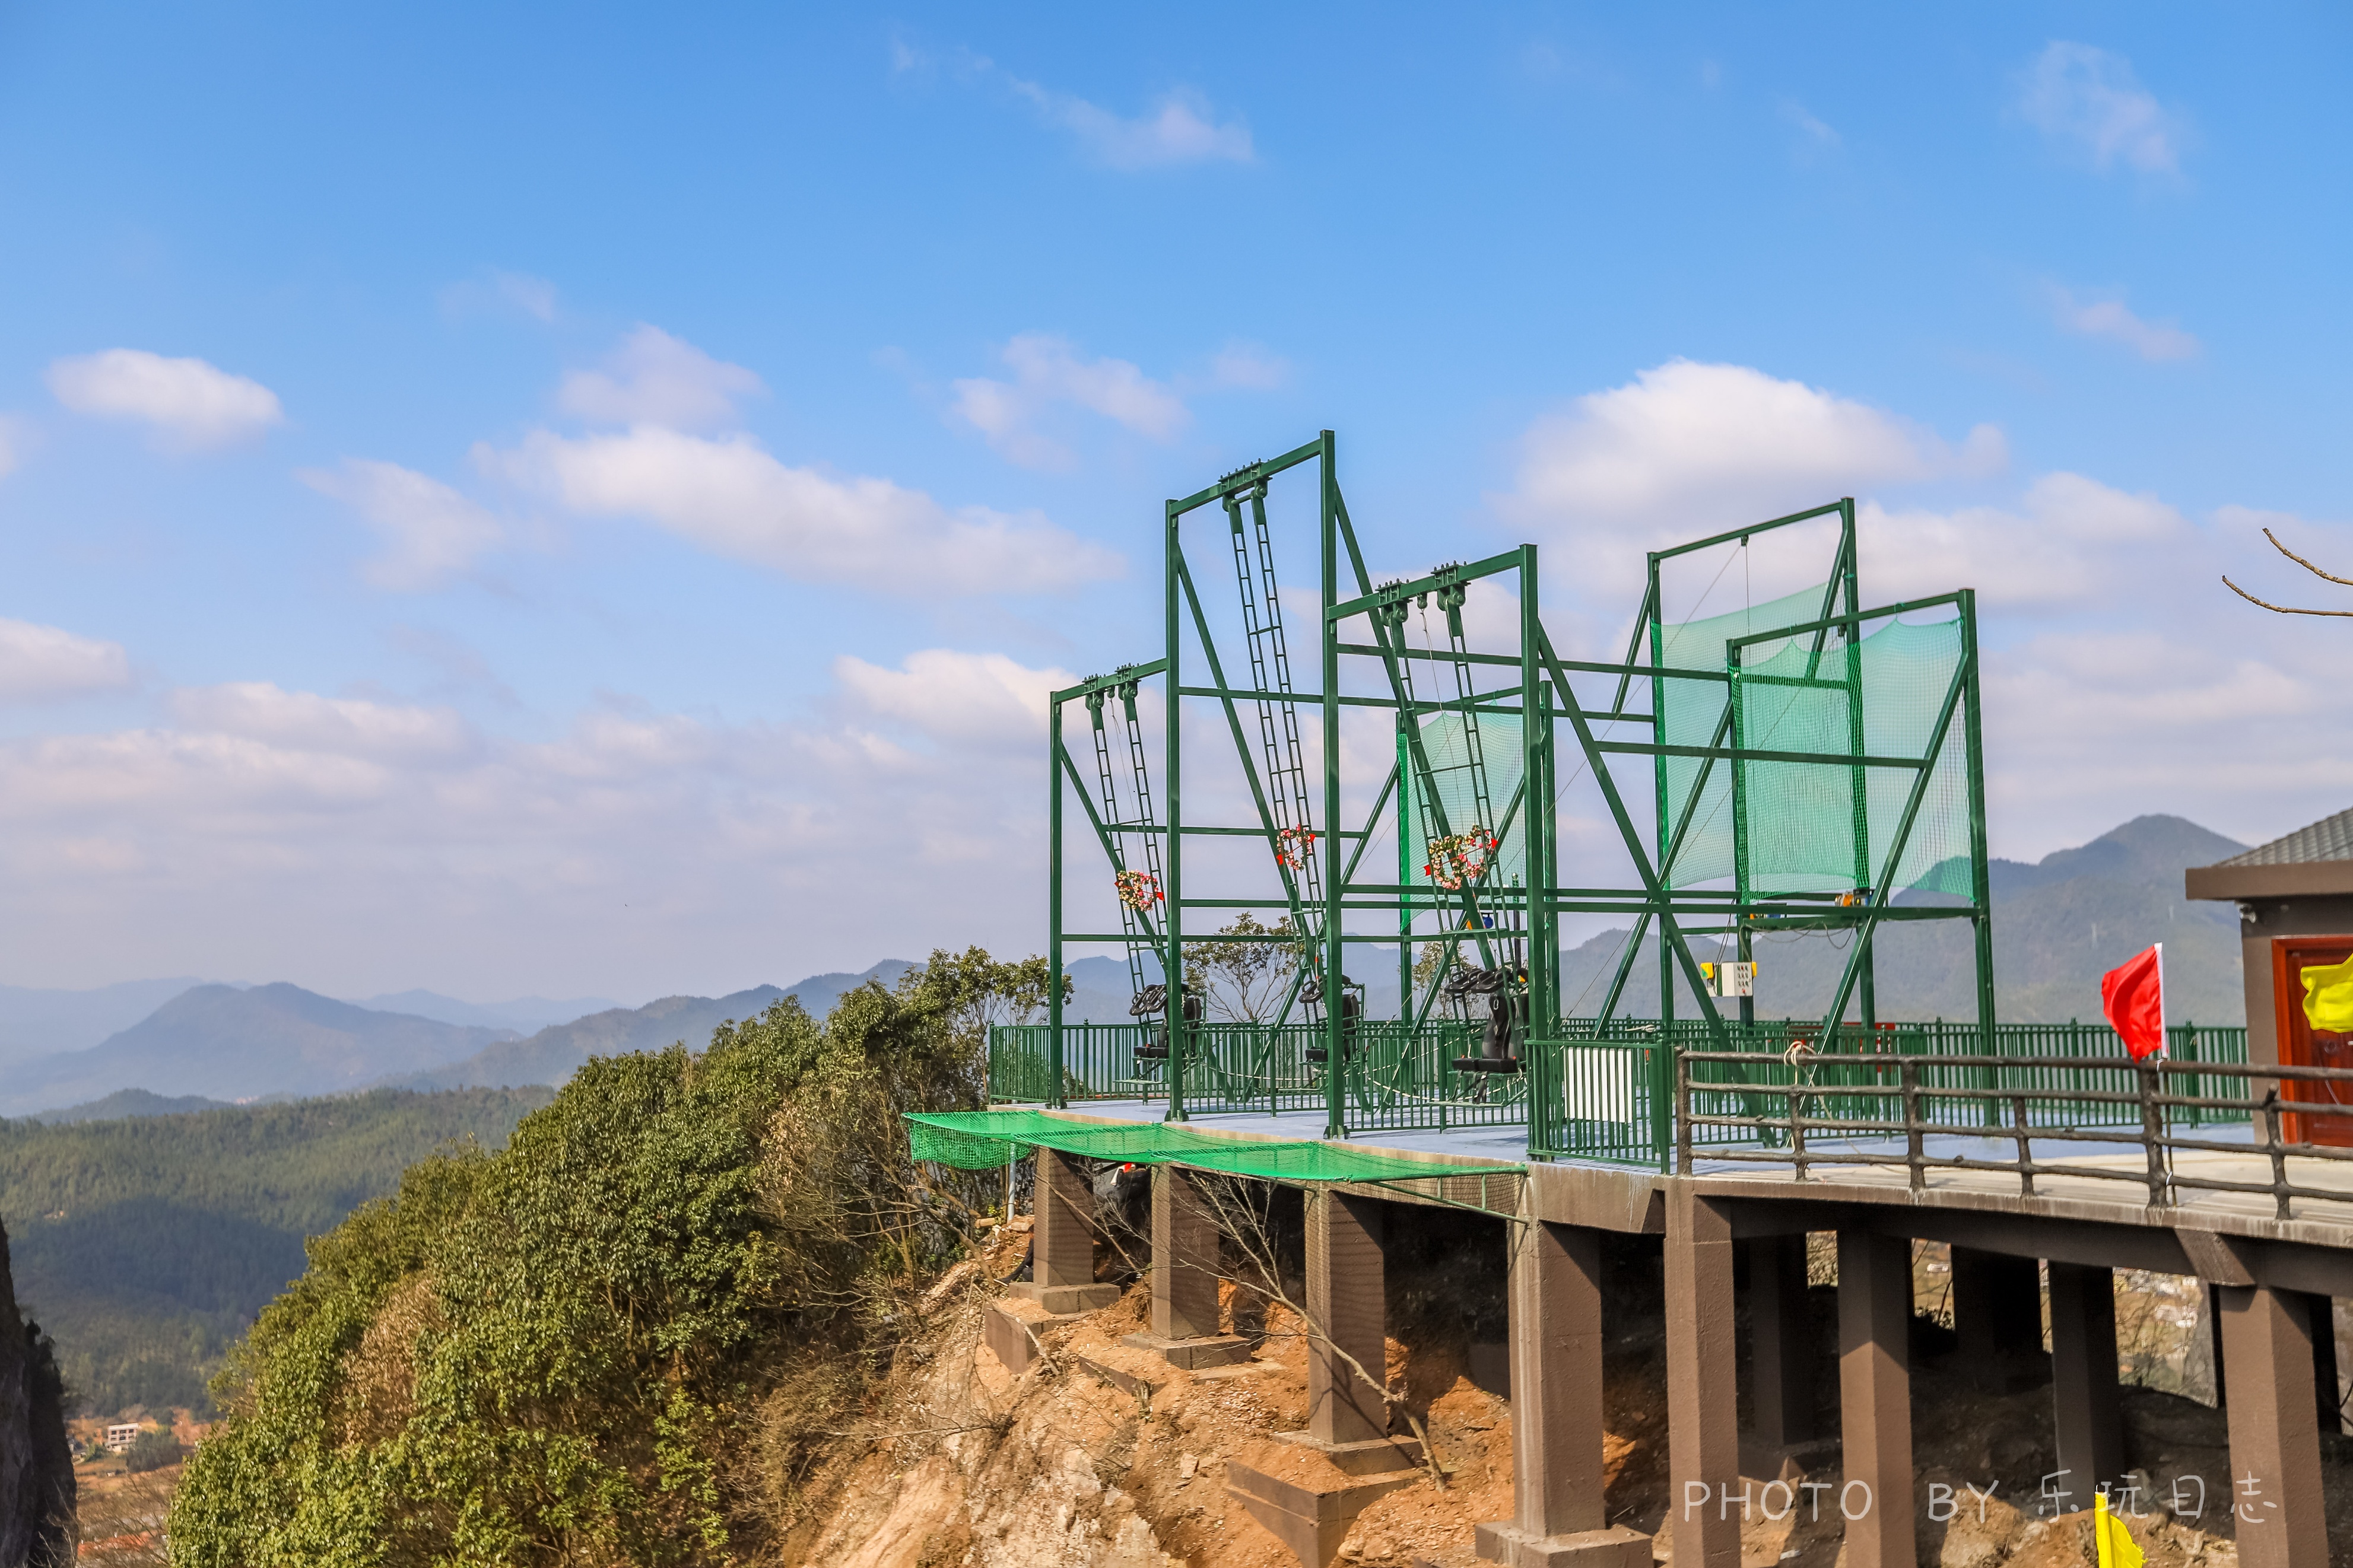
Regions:
[[[1381,1387],[1367,1382],[1388,1378],[1381,1218],[1379,1199],[1332,1187],[1308,1194],[1308,1436],[1318,1443],[1388,1436],[1388,1403]]]

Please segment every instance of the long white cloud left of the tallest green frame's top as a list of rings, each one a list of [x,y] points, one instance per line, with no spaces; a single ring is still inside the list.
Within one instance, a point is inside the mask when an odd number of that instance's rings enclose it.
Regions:
[[[640,425],[529,435],[475,449],[496,475],[591,517],[645,517],[729,559],[878,592],[1056,592],[1120,574],[1120,557],[1035,512],[948,510],[889,480],[791,468],[748,435]]]

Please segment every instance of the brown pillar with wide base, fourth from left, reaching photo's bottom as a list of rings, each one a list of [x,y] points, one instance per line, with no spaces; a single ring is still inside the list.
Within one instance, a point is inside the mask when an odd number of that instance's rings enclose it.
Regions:
[[[1541,1220],[1511,1229],[1513,1519],[1478,1526],[1494,1563],[1649,1568],[1649,1537],[1602,1507],[1602,1239]]]

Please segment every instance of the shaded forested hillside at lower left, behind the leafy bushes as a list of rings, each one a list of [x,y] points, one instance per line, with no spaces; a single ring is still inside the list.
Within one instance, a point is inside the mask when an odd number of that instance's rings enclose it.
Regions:
[[[334,1229],[433,1150],[492,1150],[546,1088],[376,1091],[122,1121],[0,1121],[16,1293],[85,1408],[205,1380]]]

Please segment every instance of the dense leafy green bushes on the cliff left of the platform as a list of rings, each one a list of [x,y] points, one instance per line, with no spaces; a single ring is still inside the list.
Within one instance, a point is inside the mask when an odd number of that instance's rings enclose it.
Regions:
[[[172,1556],[198,1568],[718,1563],[859,1396],[894,1302],[993,1180],[929,1185],[901,1110],[979,1105],[1045,964],[934,952],[711,1048],[591,1060],[499,1154],[442,1154],[311,1244],[214,1385]]]

